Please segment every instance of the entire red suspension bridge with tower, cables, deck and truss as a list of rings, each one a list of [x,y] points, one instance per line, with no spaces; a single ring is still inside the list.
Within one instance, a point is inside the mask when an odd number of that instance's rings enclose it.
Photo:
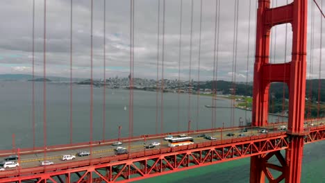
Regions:
[[[201,5],[204,1],[199,1]],[[254,1],[255,2],[255,1]],[[164,132],[163,130],[163,107],[159,109],[158,95],[160,95],[160,105],[164,105],[164,83],[165,71],[165,0],[158,0],[158,52],[157,52],[157,87],[156,91],[156,112],[160,110],[160,127],[158,124],[158,115],[156,116],[156,134],[145,134],[140,136],[133,135],[133,79],[134,79],[134,30],[135,30],[135,4],[137,1],[130,1],[130,45],[129,45],[129,126],[128,137],[119,137],[118,139],[105,138],[105,89],[103,87],[103,140],[94,141],[93,139],[93,4],[90,1],[90,140],[83,143],[72,143],[72,8],[71,1],[71,29],[70,29],[70,141],[67,144],[49,146],[47,144],[47,85],[44,80],[43,87],[43,134],[44,146],[35,146],[35,91],[33,90],[33,147],[18,148],[10,150],[0,150],[1,157],[7,157],[13,153],[17,154],[17,162],[20,166],[9,168],[6,171],[0,171],[0,182],[131,182],[142,180],[148,177],[165,175],[177,171],[186,171],[191,168],[198,168],[210,164],[218,164],[245,157],[251,157],[251,175],[250,182],[265,182],[265,178],[269,182],[300,182],[301,178],[301,161],[303,157],[303,146],[306,143],[322,141],[325,139],[325,119],[317,116],[315,119],[305,119],[305,101],[306,101],[306,69],[307,69],[307,15],[308,1],[294,0],[285,6],[271,8],[270,0],[258,0],[256,7],[256,51],[255,63],[253,67],[253,105],[252,119],[249,126],[236,126],[233,121],[234,110],[231,111],[232,125],[227,128],[217,128],[215,121],[217,116],[215,110],[212,111],[212,128],[203,130],[192,130],[190,128],[190,110],[188,110],[188,130],[177,132]],[[180,1],[181,5],[183,1]],[[322,5],[319,6],[317,1],[314,1],[319,11],[322,12]],[[103,82],[106,85],[106,1],[103,1]],[[213,80],[217,80],[218,53],[219,53],[219,11],[222,7],[221,1],[215,1],[215,19],[214,24],[214,51],[213,51]],[[190,30],[190,62],[189,62],[189,89],[192,89],[192,34],[193,34],[193,0],[191,1],[191,30]],[[233,95],[235,95],[236,87],[236,54],[238,46],[238,10],[240,4],[235,0],[234,11],[234,33],[233,33]],[[251,1],[249,1],[249,10],[251,10]],[[160,12],[162,11],[162,12]],[[161,16],[161,17],[160,17]],[[182,16],[182,8],[181,8]],[[251,13],[249,12],[249,17]],[[324,14],[321,15],[324,20]],[[161,19],[160,19],[161,18]],[[160,27],[160,20],[163,22],[163,27]],[[181,19],[182,20],[182,19]],[[199,28],[199,54],[201,51],[201,16]],[[35,33],[35,1],[33,1],[33,76],[34,76],[34,33]],[[44,68],[43,76],[47,78],[47,0],[44,0]],[[182,24],[182,21],[180,21]],[[272,41],[270,35],[271,29],[280,24],[290,24],[292,27],[292,57],[290,62],[271,63],[270,49]],[[180,26],[180,29],[182,26]],[[162,29],[162,30],[161,30]],[[161,30],[161,32],[160,32]],[[180,30],[180,36],[182,30]],[[287,32],[285,33],[287,37]],[[161,38],[161,39],[160,39]],[[160,40],[162,46],[162,55],[159,55]],[[248,39],[248,45],[251,44]],[[322,44],[322,31],[321,42]],[[320,46],[322,48],[322,46]],[[181,48],[181,39],[180,39]],[[181,49],[180,49],[181,52]],[[322,54],[322,52],[320,52]],[[179,55],[181,59],[181,54]],[[159,60],[161,58],[161,60]],[[249,58],[247,58],[248,60]],[[285,60],[285,58],[283,59]],[[159,62],[160,61],[160,62]],[[200,60],[199,60],[200,61]],[[322,61],[322,56],[320,56]],[[180,62],[179,62],[180,64]],[[161,77],[159,78],[159,66],[161,66]],[[321,64],[319,62],[319,79],[321,72]],[[247,61],[248,68],[248,61]],[[178,73],[178,80],[180,74]],[[198,80],[200,76],[198,73]],[[272,82],[283,82],[289,89],[289,107],[288,107],[288,122],[269,123],[269,86]],[[320,83],[320,82],[319,82]],[[33,89],[34,89],[33,82]],[[321,88],[319,84],[319,90]],[[199,90],[198,90],[199,91]],[[212,94],[216,96],[217,86],[213,85]],[[188,102],[191,102],[191,92],[188,94]],[[178,91],[179,94],[179,91]],[[199,95],[198,95],[199,98]],[[319,96],[318,96],[319,98]],[[178,101],[179,104],[179,101]],[[189,104],[190,106],[190,104]],[[212,99],[212,107],[216,106],[216,100]],[[190,108],[190,107],[189,107]],[[178,119],[179,121],[179,119]],[[306,125],[313,124],[313,125]],[[178,122],[179,125],[179,122]],[[281,128],[285,125],[286,129]],[[238,136],[238,132],[245,128],[247,135],[244,137]],[[261,133],[260,130],[267,130],[266,133]],[[120,127],[119,127],[120,130]],[[194,143],[187,146],[167,146],[167,141],[162,141],[157,148],[146,150],[142,142],[147,140],[161,141],[167,135],[188,134],[194,137]],[[203,139],[197,137],[200,134],[211,134],[217,137],[216,140]],[[234,134],[233,137],[228,137],[226,134]],[[119,135],[120,136],[120,135]],[[122,141],[128,144],[128,153],[124,155],[115,155],[111,145],[115,141]],[[14,142],[13,142],[14,143]],[[90,156],[74,161],[60,162],[49,166],[39,166],[39,161],[59,159],[60,155],[69,152],[69,150],[82,150],[90,148]],[[285,150],[285,155],[281,153]],[[104,153],[104,154],[103,154]],[[33,156],[32,156],[33,155]],[[38,155],[35,158],[34,155]],[[278,164],[269,162],[271,157],[276,157]],[[280,172],[278,177],[274,177],[270,169]]]

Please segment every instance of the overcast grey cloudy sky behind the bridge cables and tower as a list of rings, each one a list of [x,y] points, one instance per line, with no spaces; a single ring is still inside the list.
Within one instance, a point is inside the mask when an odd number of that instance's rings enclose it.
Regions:
[[[164,78],[178,78],[179,31],[181,0],[165,1],[165,51],[163,48],[163,0],[160,0],[160,52],[159,78],[164,54]],[[200,2],[194,0],[192,29],[191,78],[213,78],[215,39],[215,0],[203,0],[201,28],[201,65],[199,67]],[[317,0],[321,5],[321,0]],[[272,6],[282,6],[286,0],[274,0]],[[307,77],[318,78],[319,53],[325,58],[325,45],[320,49],[321,14],[313,1],[308,6],[308,70]],[[43,19],[44,0],[35,0],[35,74],[43,72]],[[324,7],[324,3],[323,3]],[[103,0],[94,0],[93,51],[94,78],[103,78]],[[315,13],[312,37],[312,8]],[[323,8],[324,9],[324,8]],[[220,3],[219,52],[217,57],[217,80],[252,80],[256,1],[239,1],[238,50],[233,51],[235,0]],[[73,77],[90,78],[90,0],[73,1]],[[158,41],[158,0],[135,0],[134,77],[156,78]],[[322,19],[324,24],[324,18]],[[32,73],[33,0],[1,0],[0,6],[0,73]],[[249,24],[250,22],[250,24]],[[190,73],[191,1],[183,0],[181,39],[181,80],[188,80]],[[250,28],[250,34],[249,34]],[[275,30],[275,28],[272,28]],[[323,34],[323,43],[324,43]],[[250,36],[250,40],[248,37]],[[310,49],[313,40],[313,49]],[[47,75],[69,77],[70,74],[70,1],[47,0]],[[250,43],[248,46],[248,42]],[[285,25],[272,31],[272,63],[291,59],[292,30],[288,26],[288,46],[285,56]],[[275,45],[275,46],[274,46]],[[125,77],[130,64],[130,1],[106,0],[106,77]],[[248,52],[249,49],[249,52]],[[235,56],[237,55],[237,56]],[[233,66],[233,58],[236,64]],[[249,58],[247,60],[247,58]],[[310,67],[312,63],[312,67]],[[322,64],[324,64],[322,62]],[[322,66],[325,67],[325,66]],[[310,71],[310,68],[312,69]],[[324,78],[324,72],[321,73]]]

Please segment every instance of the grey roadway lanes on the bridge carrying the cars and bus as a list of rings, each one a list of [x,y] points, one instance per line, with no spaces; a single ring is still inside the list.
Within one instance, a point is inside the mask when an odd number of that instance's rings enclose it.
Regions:
[[[324,121],[318,121],[318,122],[314,121],[313,125],[317,126],[317,125],[320,125],[323,123],[324,123]],[[281,125],[283,125],[283,124],[270,125],[270,128],[280,129]],[[278,132],[278,131],[270,130],[270,128],[268,128],[269,133]],[[211,132],[211,131],[193,132],[193,133],[189,133],[188,136],[194,138],[194,143],[200,143],[200,142],[209,141],[209,140],[205,139],[203,137],[197,137],[199,134],[210,135],[213,137],[217,137],[218,140],[221,140],[221,139],[238,138],[239,137],[238,135],[241,133],[245,134],[245,137],[256,136],[256,135],[261,134],[260,133],[261,129],[267,129],[267,128],[251,128],[251,129],[247,129],[247,132],[240,132],[241,129],[243,129],[243,128],[235,128],[235,130],[233,130],[233,129],[214,130],[213,132]],[[228,137],[227,136],[228,133],[233,133],[235,135],[233,137]],[[160,146],[156,146],[156,149],[167,147],[167,141],[164,141],[163,137],[158,137],[158,138],[156,137],[153,139],[142,139],[142,140],[132,141],[132,142],[123,141],[124,143],[122,146],[127,148],[128,152],[135,153],[135,152],[141,152],[141,151],[146,150],[146,148],[144,148],[144,144],[149,144],[152,141],[158,141],[161,143]],[[44,160],[49,160],[51,162],[54,162],[54,164],[63,164],[63,163],[68,163],[68,162],[78,161],[78,160],[94,159],[94,158],[99,158],[99,157],[109,157],[109,156],[115,156],[114,148],[116,148],[116,147],[117,146],[112,146],[112,143],[110,142],[110,143],[102,143],[101,146],[93,146],[92,148],[90,148],[89,146],[83,147],[83,148],[75,148],[72,150],[65,150],[63,148],[63,150],[47,152],[46,154],[35,152],[32,154],[28,154],[28,155],[20,155],[18,162],[19,162],[20,168],[31,168],[31,167],[41,166],[41,163]],[[91,152],[91,155],[85,156],[85,157],[78,157],[76,154],[81,151]],[[61,159],[62,155],[76,155],[76,159],[63,161]],[[2,157],[4,157],[4,156],[2,155]],[[7,168],[6,170],[10,170],[10,169],[12,170],[15,168]]]

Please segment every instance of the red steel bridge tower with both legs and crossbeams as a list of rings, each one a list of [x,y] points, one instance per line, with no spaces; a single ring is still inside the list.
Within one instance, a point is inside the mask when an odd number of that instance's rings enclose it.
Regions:
[[[299,183],[303,157],[303,121],[306,93],[307,0],[294,0],[286,6],[269,8],[271,0],[258,0],[256,61],[254,65],[252,125],[267,125],[269,84],[285,82],[289,88],[289,148],[283,166],[285,182]],[[272,26],[292,25],[292,60],[269,64],[269,34]],[[267,159],[251,157],[250,182],[265,182]],[[270,175],[267,175],[269,179]],[[281,179],[272,182],[279,182]]]

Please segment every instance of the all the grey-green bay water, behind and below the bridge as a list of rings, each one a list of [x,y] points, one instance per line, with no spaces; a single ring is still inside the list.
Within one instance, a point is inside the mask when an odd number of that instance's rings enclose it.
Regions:
[[[70,138],[70,88],[69,84],[47,82],[46,132],[47,146],[69,143]],[[129,91],[106,89],[106,108],[103,110],[103,88],[94,88],[93,136],[94,141],[118,137],[118,126],[122,126],[122,137],[128,137]],[[188,94],[161,94],[134,91],[133,135],[156,134],[239,125],[240,119],[250,121],[251,112],[233,108],[217,108],[216,120],[212,120],[213,98]],[[179,101],[179,107],[178,107]],[[17,148],[33,146],[32,82],[0,82],[1,133],[0,150],[12,148],[12,136]],[[218,107],[231,107],[231,101],[217,98]],[[90,87],[74,85],[72,97],[72,141],[90,141]],[[126,107],[126,110],[124,110]],[[43,146],[43,84],[35,82],[35,145]],[[157,110],[158,109],[158,110]],[[158,114],[157,112],[158,111]],[[103,112],[106,121],[103,122]],[[232,114],[234,114],[232,116]],[[163,118],[161,117],[163,115]],[[158,121],[156,120],[158,119]],[[163,123],[161,121],[163,119]],[[269,121],[277,121],[277,116],[269,116]],[[280,118],[280,121],[286,119]],[[103,128],[105,123],[105,128]],[[158,126],[158,128],[156,128]],[[163,128],[160,128],[163,126]],[[301,182],[325,182],[325,142],[305,146],[303,176]],[[153,177],[139,182],[249,182],[249,159],[205,166],[180,173]]]

